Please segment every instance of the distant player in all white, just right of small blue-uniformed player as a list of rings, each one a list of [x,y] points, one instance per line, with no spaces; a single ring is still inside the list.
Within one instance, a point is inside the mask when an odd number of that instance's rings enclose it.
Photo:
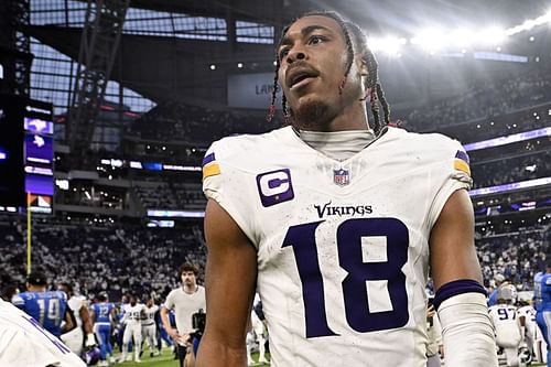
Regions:
[[[145,317],[145,305],[138,303],[136,295],[130,295],[130,303],[125,305],[125,315],[120,321],[125,324],[125,335],[122,336],[122,354],[120,361],[127,360],[128,344],[133,338],[134,361],[140,363],[141,347],[141,321]]]

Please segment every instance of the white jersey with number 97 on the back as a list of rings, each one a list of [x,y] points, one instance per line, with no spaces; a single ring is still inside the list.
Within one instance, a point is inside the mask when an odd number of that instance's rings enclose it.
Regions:
[[[520,322],[517,307],[510,304],[496,304],[488,309],[489,317],[496,330],[496,343],[504,348],[516,348],[520,344]]]

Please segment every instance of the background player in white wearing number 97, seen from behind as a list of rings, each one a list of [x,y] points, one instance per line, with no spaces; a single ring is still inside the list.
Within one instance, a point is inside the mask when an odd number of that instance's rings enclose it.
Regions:
[[[521,366],[519,348],[523,343],[525,324],[514,305],[516,290],[511,284],[501,284],[497,304],[489,307],[491,323],[496,331],[497,346],[504,349],[507,366]]]

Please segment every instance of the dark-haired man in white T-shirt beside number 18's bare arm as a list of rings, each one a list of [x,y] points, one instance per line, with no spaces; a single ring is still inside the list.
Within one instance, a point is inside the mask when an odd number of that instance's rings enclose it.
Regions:
[[[180,366],[184,367],[186,355],[188,355],[188,360],[190,358],[194,360],[194,349],[198,345],[198,341],[192,337],[194,332],[192,317],[199,310],[206,310],[206,301],[205,289],[197,284],[197,267],[192,263],[183,263],[177,272],[182,285],[172,290],[166,296],[164,306],[161,309],[161,320],[176,345]],[[174,310],[176,328],[170,324],[170,310]],[[193,366],[193,363],[190,361],[190,364]]]

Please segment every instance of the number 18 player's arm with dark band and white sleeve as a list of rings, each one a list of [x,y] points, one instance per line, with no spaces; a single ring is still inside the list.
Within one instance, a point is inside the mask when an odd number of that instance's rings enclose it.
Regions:
[[[465,190],[457,190],[444,205],[431,230],[430,249],[446,366],[497,366],[474,246],[473,205]]]

